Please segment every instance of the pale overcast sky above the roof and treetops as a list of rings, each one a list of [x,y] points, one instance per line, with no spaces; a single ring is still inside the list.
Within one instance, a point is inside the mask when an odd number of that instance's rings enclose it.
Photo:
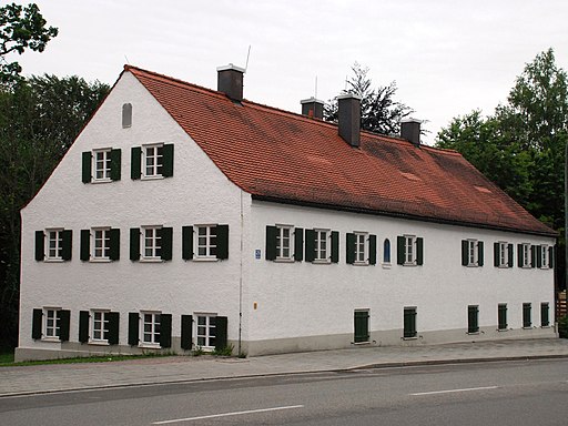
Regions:
[[[537,53],[551,47],[568,69],[566,0],[36,3],[59,36],[18,58],[26,75],[112,84],[128,62],[216,89],[216,67],[244,67],[251,45],[244,97],[300,112],[302,99],[338,94],[357,61],[375,85],[396,81],[396,99],[429,121],[428,143],[456,115],[491,113]]]

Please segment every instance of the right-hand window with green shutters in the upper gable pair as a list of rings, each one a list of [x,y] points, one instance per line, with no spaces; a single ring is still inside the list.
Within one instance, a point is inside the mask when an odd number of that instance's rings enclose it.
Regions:
[[[173,144],[133,146],[131,156],[131,178],[134,180],[173,176]]]

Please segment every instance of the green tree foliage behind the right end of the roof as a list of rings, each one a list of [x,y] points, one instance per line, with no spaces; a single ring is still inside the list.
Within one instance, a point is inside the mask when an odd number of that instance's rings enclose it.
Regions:
[[[552,49],[527,63],[494,114],[455,118],[436,145],[460,152],[532,215],[560,233],[564,264],[564,164],[568,143],[568,77]],[[564,274],[561,274],[564,276]]]

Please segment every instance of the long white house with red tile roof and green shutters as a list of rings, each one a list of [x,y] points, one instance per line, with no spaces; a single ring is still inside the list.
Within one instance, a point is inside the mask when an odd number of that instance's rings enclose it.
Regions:
[[[460,154],[125,67],[22,210],[18,359],[556,335],[556,233]]]

